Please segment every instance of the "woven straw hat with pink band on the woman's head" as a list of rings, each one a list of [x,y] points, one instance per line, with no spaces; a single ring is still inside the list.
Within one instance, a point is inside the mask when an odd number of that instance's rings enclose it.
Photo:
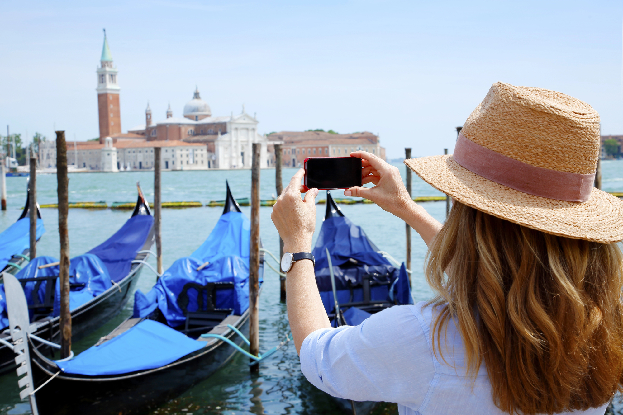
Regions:
[[[454,155],[405,160],[460,203],[548,234],[623,240],[623,201],[593,187],[599,114],[560,92],[494,83]]]

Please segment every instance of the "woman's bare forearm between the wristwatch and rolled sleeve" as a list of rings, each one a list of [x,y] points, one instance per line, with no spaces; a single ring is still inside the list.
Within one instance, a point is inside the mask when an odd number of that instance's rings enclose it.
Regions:
[[[287,252],[311,252],[310,247],[293,249],[284,247]],[[297,353],[301,350],[303,340],[319,328],[331,327],[322,305],[313,264],[310,260],[298,260],[285,280],[288,306],[288,320]]]

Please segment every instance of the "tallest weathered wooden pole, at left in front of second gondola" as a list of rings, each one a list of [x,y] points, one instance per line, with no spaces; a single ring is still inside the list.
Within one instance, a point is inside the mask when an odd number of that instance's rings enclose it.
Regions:
[[[72,315],[69,312],[69,232],[67,231],[69,179],[67,178],[65,131],[56,131],[56,179],[59,195],[60,235],[60,356],[64,359],[69,357],[72,351]]]

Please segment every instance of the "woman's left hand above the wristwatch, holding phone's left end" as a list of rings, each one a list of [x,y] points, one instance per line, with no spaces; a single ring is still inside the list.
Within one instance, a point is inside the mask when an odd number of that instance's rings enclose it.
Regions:
[[[305,171],[300,169],[292,176],[290,184],[283,189],[270,214],[270,219],[283,239],[284,252],[312,252],[318,189],[309,189],[305,199],[301,199],[301,193],[304,191],[301,185],[303,174]]]

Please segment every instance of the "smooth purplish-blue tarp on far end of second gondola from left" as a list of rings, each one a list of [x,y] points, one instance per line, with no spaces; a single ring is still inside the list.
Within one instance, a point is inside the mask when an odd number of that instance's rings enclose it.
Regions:
[[[151,215],[130,217],[113,236],[87,254],[97,255],[106,264],[110,278],[118,282],[130,272],[132,260],[145,245],[153,222]]]

